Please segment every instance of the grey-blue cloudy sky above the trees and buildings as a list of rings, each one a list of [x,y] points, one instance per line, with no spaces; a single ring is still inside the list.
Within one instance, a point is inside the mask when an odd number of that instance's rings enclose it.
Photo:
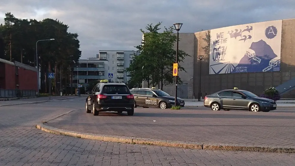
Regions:
[[[147,24],[183,23],[182,33],[295,18],[294,0],[0,0],[17,18],[59,19],[79,34],[82,57],[98,50],[135,50]]]

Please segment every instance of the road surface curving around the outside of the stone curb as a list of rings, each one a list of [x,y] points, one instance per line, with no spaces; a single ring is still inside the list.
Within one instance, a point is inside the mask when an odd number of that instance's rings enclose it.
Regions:
[[[70,110],[81,109],[84,113],[84,101],[84,98],[74,98],[0,107],[0,165],[295,165],[295,154],[204,151],[120,144],[54,135],[35,129],[35,123],[50,120]],[[227,112],[228,116],[230,113]],[[285,114],[292,113],[291,110],[280,112],[282,117],[288,117]],[[130,118],[136,118],[136,114]],[[142,113],[143,115],[148,114]],[[171,115],[167,114],[167,118],[169,116]],[[128,116],[90,117],[109,119]],[[259,119],[261,118],[257,118]]]

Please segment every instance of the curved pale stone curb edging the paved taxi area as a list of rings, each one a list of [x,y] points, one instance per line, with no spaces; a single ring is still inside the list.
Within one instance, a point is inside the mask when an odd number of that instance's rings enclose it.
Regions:
[[[68,113],[65,113],[65,114],[68,114]],[[91,134],[91,133],[78,133],[76,131],[69,131],[69,130],[63,130],[63,129],[58,129],[55,127],[46,126],[43,123],[36,124],[36,128],[39,130],[46,131],[49,133],[54,133],[54,134],[66,135],[66,136],[71,136],[76,138],[91,139],[91,140],[108,141],[108,142],[121,142],[121,143],[130,143],[130,144],[156,145],[156,146],[167,146],[167,147],[187,148],[187,149],[203,149],[203,150],[295,153],[295,147],[283,147],[283,146],[282,147],[278,147],[278,146],[263,147],[263,146],[235,145],[235,144],[233,145],[210,144],[210,143],[198,143],[198,142],[154,140],[154,139],[136,138],[136,137],[109,136],[109,135]]]

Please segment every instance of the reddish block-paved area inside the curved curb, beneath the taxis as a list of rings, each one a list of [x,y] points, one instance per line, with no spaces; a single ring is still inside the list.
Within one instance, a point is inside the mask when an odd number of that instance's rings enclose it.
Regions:
[[[93,134],[295,148],[295,110],[290,107],[272,112],[216,112],[205,107],[182,110],[139,107],[135,109],[134,116],[127,116],[126,112],[104,112],[93,116],[83,109],[46,125]]]

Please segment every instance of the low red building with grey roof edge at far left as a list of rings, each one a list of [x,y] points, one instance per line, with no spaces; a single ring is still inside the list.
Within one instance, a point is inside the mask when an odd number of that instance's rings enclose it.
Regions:
[[[0,98],[36,95],[37,87],[37,68],[0,59]]]

